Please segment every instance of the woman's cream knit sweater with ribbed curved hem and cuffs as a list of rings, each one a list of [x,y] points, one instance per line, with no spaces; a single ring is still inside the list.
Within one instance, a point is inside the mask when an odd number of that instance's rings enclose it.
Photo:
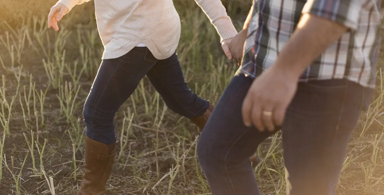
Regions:
[[[59,0],[69,10],[89,0]],[[221,40],[237,34],[220,0],[195,0]],[[180,18],[172,0],[94,0],[102,59],[118,58],[144,43],[157,59],[166,59],[180,39]]]

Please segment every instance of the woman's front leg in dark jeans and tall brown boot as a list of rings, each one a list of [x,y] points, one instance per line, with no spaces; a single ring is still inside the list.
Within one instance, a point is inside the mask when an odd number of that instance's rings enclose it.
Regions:
[[[101,195],[111,174],[115,150],[114,116],[154,62],[146,48],[134,48],[116,59],[103,60],[86,99],[83,183],[78,195]]]

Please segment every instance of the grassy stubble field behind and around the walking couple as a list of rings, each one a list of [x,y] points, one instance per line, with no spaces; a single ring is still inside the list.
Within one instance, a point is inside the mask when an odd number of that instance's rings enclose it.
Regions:
[[[74,195],[83,172],[82,109],[103,46],[93,2],[47,29],[55,0],[0,1],[0,195]],[[240,29],[251,0],[223,0]],[[193,0],[174,0],[182,20],[178,55],[189,87],[214,104],[238,68]],[[338,193],[384,194],[383,55],[377,91],[351,137]],[[116,116],[117,155],[108,195],[210,194],[196,158],[200,130],[169,111],[144,78]],[[281,135],[258,151],[262,194],[285,194]],[[32,155],[33,154],[33,155]]]

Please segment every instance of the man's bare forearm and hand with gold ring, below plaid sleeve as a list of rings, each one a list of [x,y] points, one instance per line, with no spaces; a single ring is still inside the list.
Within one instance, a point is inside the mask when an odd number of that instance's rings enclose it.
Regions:
[[[260,131],[280,126],[300,75],[347,30],[338,22],[303,14],[275,64],[255,79],[248,90],[242,107],[245,126],[253,124]],[[232,56],[235,58],[235,54]]]

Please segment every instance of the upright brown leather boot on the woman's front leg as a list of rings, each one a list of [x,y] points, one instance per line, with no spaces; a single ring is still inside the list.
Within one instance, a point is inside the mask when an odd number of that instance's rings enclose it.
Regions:
[[[78,195],[102,195],[105,192],[115,153],[116,142],[106,145],[85,137],[84,175]]]

